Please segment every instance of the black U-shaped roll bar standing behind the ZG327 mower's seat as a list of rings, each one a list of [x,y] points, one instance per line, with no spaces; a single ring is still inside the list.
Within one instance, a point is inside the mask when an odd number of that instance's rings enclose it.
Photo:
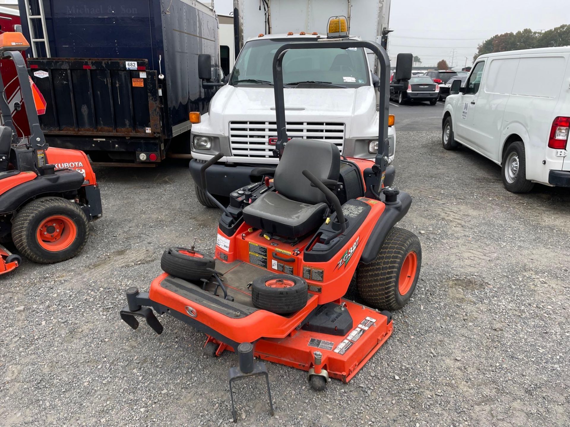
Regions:
[[[389,96],[390,96],[390,58],[386,50],[376,42],[368,42],[366,40],[350,40],[343,39],[339,42],[293,42],[286,43],[279,47],[273,57],[273,89],[275,92],[275,114],[277,124],[277,143],[275,153],[278,157],[283,154],[283,149],[288,141],[287,128],[285,120],[285,100],[283,95],[283,57],[290,49],[346,49],[349,47],[363,47],[371,50],[380,60],[379,79],[380,84],[380,120],[378,121],[378,142],[382,142],[381,150],[378,147],[375,163],[373,168],[377,178],[377,192],[380,192],[386,168],[388,167],[389,142],[388,142],[388,113],[389,113]],[[338,215],[338,213],[337,213]]]

